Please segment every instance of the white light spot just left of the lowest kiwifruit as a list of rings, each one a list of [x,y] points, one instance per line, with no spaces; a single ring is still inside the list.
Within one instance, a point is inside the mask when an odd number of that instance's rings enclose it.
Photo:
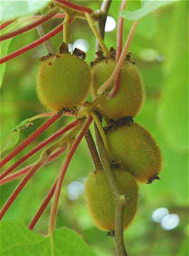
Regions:
[[[81,182],[71,182],[68,187],[68,197],[71,201],[77,200],[77,198],[84,192],[84,184]]]

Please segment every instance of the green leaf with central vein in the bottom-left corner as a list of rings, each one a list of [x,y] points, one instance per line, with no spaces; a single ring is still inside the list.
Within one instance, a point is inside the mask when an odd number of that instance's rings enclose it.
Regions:
[[[49,237],[30,231],[18,221],[0,223],[1,256],[51,256]],[[54,256],[96,256],[84,240],[73,230],[57,229],[53,233]]]

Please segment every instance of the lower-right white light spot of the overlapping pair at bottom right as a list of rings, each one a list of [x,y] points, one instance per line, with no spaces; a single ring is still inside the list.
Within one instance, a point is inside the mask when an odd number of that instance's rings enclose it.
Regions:
[[[179,225],[180,218],[177,214],[168,214],[162,219],[161,227],[164,230],[171,230]]]

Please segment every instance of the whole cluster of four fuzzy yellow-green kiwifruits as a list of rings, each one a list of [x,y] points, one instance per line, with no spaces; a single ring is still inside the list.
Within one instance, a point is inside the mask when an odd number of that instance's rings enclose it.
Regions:
[[[97,90],[109,79],[115,66],[115,52],[110,58],[95,59],[91,70],[77,54],[66,52],[44,57],[37,84],[40,101],[56,112],[81,106],[90,87],[96,98]],[[112,168],[112,173],[120,194],[127,198],[124,229],[137,211],[136,182],[151,183],[159,178],[157,175],[162,168],[162,155],[155,140],[144,128],[133,123],[132,118],[141,109],[144,97],[140,74],[127,56],[121,67],[119,91],[114,98],[97,106],[102,116],[111,120],[104,131],[112,160],[122,164]],[[102,230],[114,230],[115,202],[103,170],[94,170],[88,175],[85,196],[94,224]]]

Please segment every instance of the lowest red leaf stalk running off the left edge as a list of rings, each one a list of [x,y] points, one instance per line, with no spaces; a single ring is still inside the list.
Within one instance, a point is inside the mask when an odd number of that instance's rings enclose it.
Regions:
[[[8,201],[3,206],[2,210],[0,211],[0,220],[3,218],[11,204],[17,198],[17,195],[21,192],[21,190],[25,187],[26,183],[31,179],[31,177],[42,167],[44,161],[39,161],[36,165],[34,165],[31,171],[23,178],[23,180],[18,184],[15,191],[10,195]]]

